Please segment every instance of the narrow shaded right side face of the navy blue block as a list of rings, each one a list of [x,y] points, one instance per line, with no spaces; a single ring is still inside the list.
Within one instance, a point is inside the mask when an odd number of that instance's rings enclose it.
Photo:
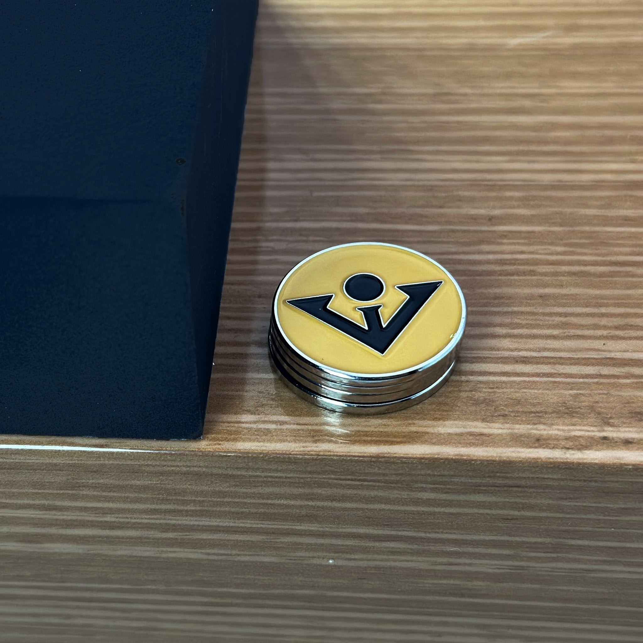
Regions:
[[[248,93],[250,66],[239,60],[252,55],[257,4],[251,1],[221,3],[221,20],[215,23],[206,62],[193,170],[188,181],[187,224],[190,286],[194,309],[199,395],[205,412],[210,370],[219,319],[219,302],[225,271],[220,257],[228,253],[230,219],[239,165],[239,150]],[[224,97],[224,100],[222,100]]]

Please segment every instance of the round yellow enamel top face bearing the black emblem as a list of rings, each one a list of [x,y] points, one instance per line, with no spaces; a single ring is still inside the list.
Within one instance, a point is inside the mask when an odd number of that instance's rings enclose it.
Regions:
[[[430,258],[361,243],[329,248],[294,267],[277,290],[274,314],[303,357],[383,375],[441,358],[462,336],[466,311],[453,277]]]

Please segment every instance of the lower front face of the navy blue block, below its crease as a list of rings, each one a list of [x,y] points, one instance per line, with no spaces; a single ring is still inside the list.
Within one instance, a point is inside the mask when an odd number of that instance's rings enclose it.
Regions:
[[[177,212],[71,199],[3,208],[12,213],[0,237],[3,431],[199,435]]]

